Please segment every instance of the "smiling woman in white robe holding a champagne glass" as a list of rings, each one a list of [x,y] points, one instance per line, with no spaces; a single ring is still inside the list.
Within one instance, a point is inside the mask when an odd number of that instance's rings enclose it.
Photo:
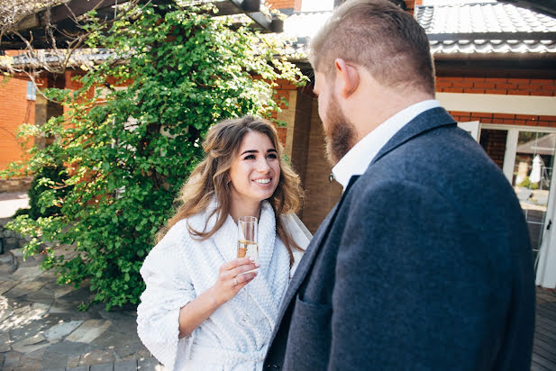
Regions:
[[[141,267],[137,331],[170,369],[260,370],[310,234],[277,132],[251,116],[214,125],[182,205]],[[259,261],[236,258],[237,220],[259,218]]]

